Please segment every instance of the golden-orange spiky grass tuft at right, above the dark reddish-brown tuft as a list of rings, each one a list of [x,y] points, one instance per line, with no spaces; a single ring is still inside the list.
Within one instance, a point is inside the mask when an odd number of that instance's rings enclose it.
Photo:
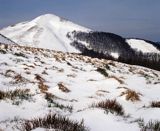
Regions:
[[[120,96],[126,96],[126,100],[130,100],[132,102],[140,101],[140,96],[142,96],[141,93],[138,93],[134,90],[127,89],[126,91],[122,92]]]

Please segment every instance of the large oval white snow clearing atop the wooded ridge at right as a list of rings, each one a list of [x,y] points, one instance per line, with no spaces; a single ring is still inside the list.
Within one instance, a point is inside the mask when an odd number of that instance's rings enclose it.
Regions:
[[[160,51],[151,43],[138,39],[127,39],[126,42],[131,48],[143,53],[160,53]]]

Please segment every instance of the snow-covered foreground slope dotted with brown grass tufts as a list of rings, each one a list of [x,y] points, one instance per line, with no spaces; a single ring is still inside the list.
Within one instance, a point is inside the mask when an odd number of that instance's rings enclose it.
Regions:
[[[56,113],[83,121],[90,131],[140,131],[148,121],[160,121],[159,108],[151,106],[160,101],[159,87],[160,72],[148,68],[0,44],[0,130],[24,130],[27,120]],[[27,91],[7,93],[17,89]],[[124,114],[93,106],[106,99],[116,99]]]

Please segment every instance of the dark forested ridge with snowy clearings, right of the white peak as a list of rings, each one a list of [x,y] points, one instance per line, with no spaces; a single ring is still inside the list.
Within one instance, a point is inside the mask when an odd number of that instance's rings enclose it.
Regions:
[[[160,70],[160,45],[154,42],[93,31],[72,32],[68,38],[84,55]]]

